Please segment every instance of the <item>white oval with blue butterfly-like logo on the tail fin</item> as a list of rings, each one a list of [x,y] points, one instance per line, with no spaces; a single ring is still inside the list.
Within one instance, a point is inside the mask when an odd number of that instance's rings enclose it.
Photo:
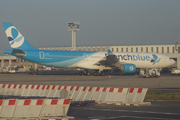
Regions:
[[[7,28],[5,32],[12,48],[18,48],[24,43],[24,37],[14,26]]]

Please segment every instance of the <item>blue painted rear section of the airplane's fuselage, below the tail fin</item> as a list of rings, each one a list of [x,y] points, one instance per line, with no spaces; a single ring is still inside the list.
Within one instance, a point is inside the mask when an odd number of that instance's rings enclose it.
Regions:
[[[26,56],[20,58],[38,64],[42,64],[46,66],[54,66],[54,67],[67,67],[97,53],[95,51],[54,51],[54,50],[52,51],[26,50],[25,52],[26,52]]]

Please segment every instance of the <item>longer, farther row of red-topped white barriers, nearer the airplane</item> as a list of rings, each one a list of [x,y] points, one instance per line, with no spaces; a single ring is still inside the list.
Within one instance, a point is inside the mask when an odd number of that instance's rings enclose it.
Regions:
[[[63,89],[68,91],[66,98],[60,96]],[[114,105],[142,104],[147,90],[147,88],[0,84],[1,96],[62,97],[63,99],[70,98],[72,101],[95,100],[96,103]]]

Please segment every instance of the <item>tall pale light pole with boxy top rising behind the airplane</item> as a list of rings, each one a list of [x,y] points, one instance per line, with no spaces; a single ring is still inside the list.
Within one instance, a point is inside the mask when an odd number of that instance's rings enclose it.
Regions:
[[[76,50],[76,31],[79,31],[79,22],[68,22],[68,31],[72,31],[72,50]]]

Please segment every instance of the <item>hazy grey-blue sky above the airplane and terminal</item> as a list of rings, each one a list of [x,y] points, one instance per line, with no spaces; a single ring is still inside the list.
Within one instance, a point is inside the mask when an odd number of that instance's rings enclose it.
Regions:
[[[80,22],[77,46],[180,42],[180,0],[0,0],[0,23],[13,23],[37,48],[70,47],[71,21]],[[5,49],[10,45],[0,24]]]

